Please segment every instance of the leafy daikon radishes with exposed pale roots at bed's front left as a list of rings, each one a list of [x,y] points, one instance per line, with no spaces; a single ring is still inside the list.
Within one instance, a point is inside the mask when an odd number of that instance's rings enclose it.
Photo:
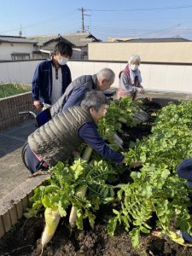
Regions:
[[[106,183],[108,175],[115,175],[113,168],[105,161],[74,160],[73,165],[58,162],[50,168],[51,177],[47,185],[34,191],[32,209],[26,212],[26,218],[37,214],[45,208],[46,235],[42,236],[42,247],[50,241],[55,233],[60,217],[67,215],[67,208],[73,206],[75,224],[83,229],[83,219],[88,218],[90,226],[95,223],[95,212],[100,204],[113,201],[113,186]],[[87,193],[82,194],[82,188]]]

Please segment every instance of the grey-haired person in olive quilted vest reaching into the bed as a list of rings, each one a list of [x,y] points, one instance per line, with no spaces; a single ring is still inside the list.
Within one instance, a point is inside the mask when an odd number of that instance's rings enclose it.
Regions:
[[[102,91],[86,93],[81,106],[62,110],[28,137],[26,162],[30,172],[55,166],[87,143],[104,158],[125,163],[122,154],[109,148],[98,134],[96,122],[106,112],[108,99]]]

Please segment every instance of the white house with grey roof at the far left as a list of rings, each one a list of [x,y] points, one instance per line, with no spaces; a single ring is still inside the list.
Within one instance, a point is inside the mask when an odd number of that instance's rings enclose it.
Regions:
[[[38,48],[37,41],[16,36],[0,35],[0,61],[29,60]]]

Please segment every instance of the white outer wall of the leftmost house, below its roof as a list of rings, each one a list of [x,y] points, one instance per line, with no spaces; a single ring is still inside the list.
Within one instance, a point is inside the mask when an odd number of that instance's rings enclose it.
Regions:
[[[0,44],[0,61],[11,61],[11,54],[13,53],[28,53],[32,58],[32,51],[35,50],[33,44],[21,44],[21,43],[1,43]]]

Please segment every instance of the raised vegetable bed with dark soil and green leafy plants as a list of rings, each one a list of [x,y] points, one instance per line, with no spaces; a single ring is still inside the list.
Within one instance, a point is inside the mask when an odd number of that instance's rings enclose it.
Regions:
[[[36,218],[22,218],[3,236],[0,255],[40,255],[44,208],[51,207],[64,218],[42,255],[192,255],[190,244],[175,233],[192,226],[190,190],[176,174],[177,164],[192,153],[192,102],[169,104],[161,111],[157,103],[143,102],[140,108],[153,113],[147,120],[131,102],[120,102],[119,110],[114,105],[99,129],[111,147],[118,146],[112,131],[123,139],[119,150],[125,152],[126,166],[101,162],[96,154],[89,165],[81,160],[58,164],[47,186],[35,191],[28,215],[35,213]],[[125,105],[131,111],[125,113]],[[122,114],[126,118],[119,124],[116,118]],[[132,160],[143,166],[133,167]],[[85,198],[73,194],[82,184]],[[68,224],[71,205],[79,211],[80,230]]]

